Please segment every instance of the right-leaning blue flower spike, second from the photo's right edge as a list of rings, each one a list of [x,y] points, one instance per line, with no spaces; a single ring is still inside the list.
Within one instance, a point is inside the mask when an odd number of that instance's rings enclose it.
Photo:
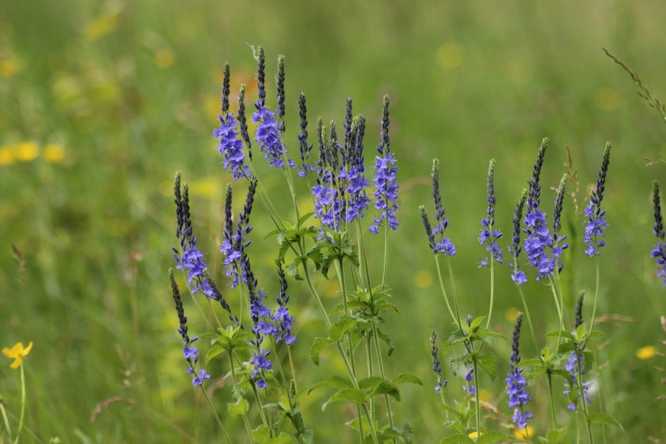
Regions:
[[[597,178],[597,186],[592,190],[592,195],[589,198],[589,204],[585,207],[585,216],[587,216],[587,224],[585,224],[585,254],[590,257],[599,256],[599,249],[606,245],[604,239],[604,229],[608,227],[606,222],[606,210],[602,210],[602,200],[604,199],[604,190],[606,188],[606,174],[608,173],[608,165],[611,156],[611,144],[606,143],[604,149],[604,157],[602,159],[602,168],[599,171]]]

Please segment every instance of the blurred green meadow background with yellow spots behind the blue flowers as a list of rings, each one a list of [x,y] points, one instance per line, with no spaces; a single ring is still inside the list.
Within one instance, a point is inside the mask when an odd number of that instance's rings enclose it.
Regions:
[[[439,442],[447,432],[431,387],[431,330],[451,331],[417,206],[431,205],[431,159],[441,159],[442,193],[458,246],[453,266],[463,311],[487,311],[485,253],[476,238],[485,212],[485,174],[497,159],[497,224],[510,233],[512,207],[531,173],[543,137],[551,148],[543,170],[543,203],[551,212],[565,169],[566,148],[577,171],[578,205],[585,205],[604,143],[613,144],[604,206],[610,227],[602,265],[599,314],[609,343],[599,353],[592,410],[616,416],[625,435],[606,428],[608,442],[665,442],[664,358],[643,351],[665,333],[662,285],[649,257],[655,241],[651,181],[666,186],[666,126],[636,96],[636,87],[604,52],[636,69],[657,96],[666,96],[666,4],[633,1],[2,1],[0,3],[0,346],[34,341],[26,360],[28,414],[25,442],[59,436],[72,443],[212,442],[215,423],[187,375],[166,269],[174,265],[171,181],[176,170],[191,184],[199,245],[223,282],[218,244],[222,198],[230,176],[219,164],[216,125],[222,68],[232,67],[232,98],[249,84],[256,96],[249,45],[264,45],[272,79],[286,55],[288,145],[295,142],[296,99],[307,93],[310,134],[316,117],[336,119],[344,98],[371,123],[366,161],[379,138],[381,97],[392,101],[392,148],[400,165],[400,229],[390,236],[390,279],[399,316],[385,330],[396,351],[388,372],[413,372],[424,387],[405,388],[395,416],[414,426],[416,442]],[[275,103],[269,84],[269,104]],[[236,103],[232,100],[232,110]],[[282,178],[262,167],[262,180],[279,201]],[[307,189],[301,184],[307,202]],[[235,190],[236,203],[244,184]],[[572,189],[575,188],[572,186]],[[237,206],[236,206],[237,207]],[[289,207],[284,206],[286,217]],[[573,248],[563,277],[570,311],[579,290],[594,288],[594,261],[582,255],[583,220],[574,200],[565,207]],[[262,285],[275,290],[271,229],[257,205],[252,254]],[[368,236],[369,237],[369,236]],[[12,246],[16,248],[13,251]],[[371,239],[373,273],[382,242]],[[318,285],[332,307],[337,285]],[[334,355],[321,368],[310,342],[324,326],[305,286],[291,283],[299,338],[299,383],[344,369]],[[526,285],[538,334],[555,326],[548,288]],[[234,302],[237,298],[230,293]],[[591,298],[588,298],[591,299]],[[591,307],[587,300],[586,316]],[[497,277],[493,326],[510,335],[519,298],[507,268]],[[203,329],[191,305],[190,329]],[[617,319],[617,318],[614,318]],[[527,337],[526,337],[527,338]],[[497,348],[507,372],[509,343]],[[648,349],[649,350],[649,349]],[[524,355],[534,356],[531,341]],[[663,348],[662,348],[663,351]],[[4,357],[3,357],[4,359]],[[448,374],[448,367],[444,365]],[[227,371],[212,365],[214,402],[230,400]],[[447,396],[461,395],[449,377]],[[482,398],[509,414],[503,377],[483,379]],[[0,366],[0,393],[18,414],[18,372]],[[531,424],[548,428],[543,380],[533,388]],[[601,395],[601,396],[600,396]],[[354,411],[304,399],[305,422],[316,442],[351,442],[342,422]],[[94,414],[102,402],[108,405]],[[113,402],[115,401],[115,402]],[[560,422],[575,428],[564,396]],[[225,419],[234,433],[240,421]],[[498,423],[506,425],[506,419]],[[595,428],[601,438],[601,428]],[[239,438],[241,439],[241,438]],[[661,440],[661,441],[659,441]]]

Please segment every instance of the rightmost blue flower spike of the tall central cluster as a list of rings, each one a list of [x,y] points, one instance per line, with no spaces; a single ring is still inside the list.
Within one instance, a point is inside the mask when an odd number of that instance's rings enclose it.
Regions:
[[[384,96],[381,132],[382,140],[377,147],[380,155],[375,157],[373,176],[373,183],[375,185],[375,191],[373,192],[375,209],[380,210],[380,214],[378,217],[375,217],[375,222],[370,227],[370,232],[373,234],[378,234],[379,226],[382,222],[388,224],[388,227],[394,231],[397,229],[398,224],[400,224],[395,217],[398,189],[396,180],[397,166],[395,166],[397,160],[395,160],[395,157],[390,153],[388,105],[388,96]]]

